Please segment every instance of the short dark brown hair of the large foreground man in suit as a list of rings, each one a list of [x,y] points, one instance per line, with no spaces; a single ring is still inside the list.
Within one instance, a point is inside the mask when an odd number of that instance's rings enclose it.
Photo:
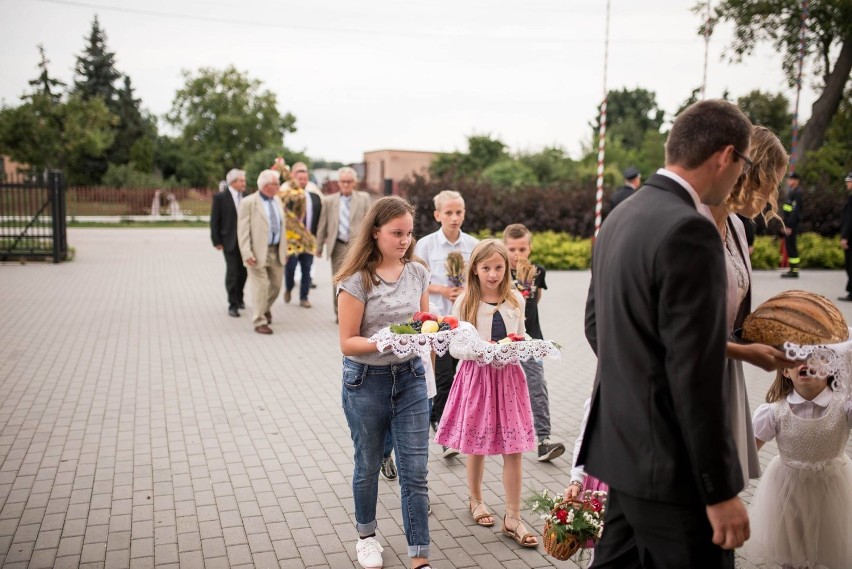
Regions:
[[[728,101],[711,99],[687,107],[675,119],[666,141],[666,164],[694,170],[728,145],[748,150],[751,121]]]

